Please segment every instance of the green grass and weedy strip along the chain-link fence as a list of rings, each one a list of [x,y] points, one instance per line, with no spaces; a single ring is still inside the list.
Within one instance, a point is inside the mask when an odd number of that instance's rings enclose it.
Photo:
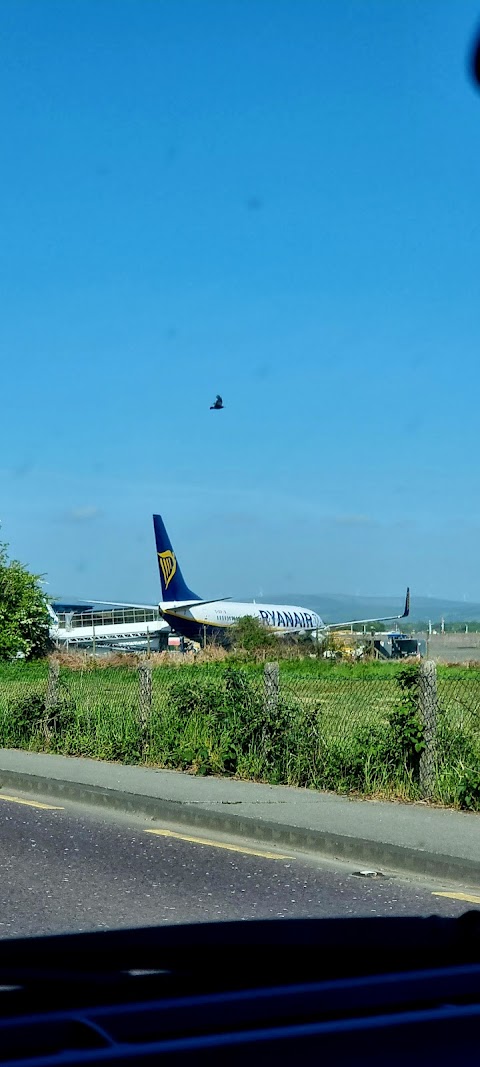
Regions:
[[[4,664],[0,745],[480,810],[480,668]]]

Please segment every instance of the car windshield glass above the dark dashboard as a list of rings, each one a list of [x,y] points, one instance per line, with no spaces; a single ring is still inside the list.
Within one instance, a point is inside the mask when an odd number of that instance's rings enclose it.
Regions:
[[[480,904],[478,16],[2,0],[0,936]]]

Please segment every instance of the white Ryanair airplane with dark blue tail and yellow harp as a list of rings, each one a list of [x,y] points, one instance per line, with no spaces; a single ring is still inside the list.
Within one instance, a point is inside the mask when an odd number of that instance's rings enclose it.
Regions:
[[[253,616],[275,634],[287,635],[315,634],[317,631],[324,633],[357,623],[393,622],[396,619],[405,619],[410,612],[409,589],[402,615],[387,616],[383,619],[351,619],[348,622],[330,625],[326,625],[316,611],[294,607],[291,604],[242,604],[231,601],[229,596],[222,600],[202,600],[185,583],[160,515],[154,515],[154,529],[162,590],[160,614],[172,630],[193,641],[202,641],[206,637],[221,639],[225,630],[244,616]]]

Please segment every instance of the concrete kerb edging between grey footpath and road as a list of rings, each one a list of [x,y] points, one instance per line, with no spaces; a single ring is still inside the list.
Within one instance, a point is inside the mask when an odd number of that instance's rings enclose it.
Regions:
[[[277,845],[299,851],[318,853],[321,856],[374,869],[390,869],[409,874],[420,874],[442,881],[455,881],[480,888],[480,862],[460,856],[389,844],[388,842],[352,838],[323,830],[306,829],[255,819],[240,813],[213,811],[201,805],[182,803],[123,790],[109,790],[100,785],[73,782],[65,779],[30,775],[17,770],[0,770],[0,789],[9,786],[26,793],[35,793],[58,800],[74,800],[148,818],[196,827],[202,830],[249,838],[262,844]]]

